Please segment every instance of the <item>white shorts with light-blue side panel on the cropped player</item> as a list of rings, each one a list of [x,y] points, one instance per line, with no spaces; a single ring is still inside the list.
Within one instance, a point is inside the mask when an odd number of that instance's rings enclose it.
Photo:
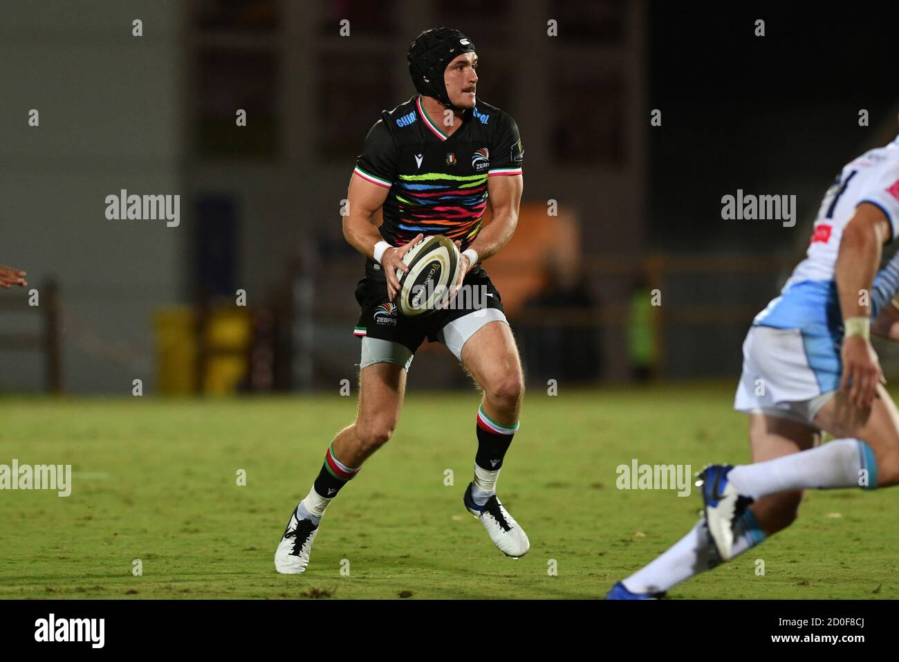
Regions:
[[[831,336],[796,328],[751,327],[734,409],[810,427],[840,385],[839,347]]]

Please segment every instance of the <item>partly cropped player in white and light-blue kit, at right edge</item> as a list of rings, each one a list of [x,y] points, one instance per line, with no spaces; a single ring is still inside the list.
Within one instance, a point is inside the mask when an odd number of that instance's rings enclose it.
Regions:
[[[870,344],[872,331],[899,340],[899,257],[877,273],[897,232],[899,138],[842,169],[806,259],[746,335],[734,408],[753,463],[703,470],[704,518],[607,597],[652,598],[733,559],[793,523],[805,489],[899,481],[899,411]],[[819,446],[822,430],[836,439]]]

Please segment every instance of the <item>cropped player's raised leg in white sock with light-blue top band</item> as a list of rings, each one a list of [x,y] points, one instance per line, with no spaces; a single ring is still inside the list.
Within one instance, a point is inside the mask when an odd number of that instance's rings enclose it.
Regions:
[[[899,412],[883,386],[878,385],[877,398],[864,409],[837,392],[818,411],[814,425],[839,438],[797,457],[713,468],[718,470],[716,510],[721,514],[712,534],[725,558],[728,513],[738,516],[741,501],[797,489],[875,489],[899,482]]]

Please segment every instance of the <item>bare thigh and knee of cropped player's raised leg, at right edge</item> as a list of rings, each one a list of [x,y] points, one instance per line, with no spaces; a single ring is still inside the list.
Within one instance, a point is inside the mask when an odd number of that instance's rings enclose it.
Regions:
[[[877,461],[878,485],[899,482],[899,411],[882,385],[877,385],[877,398],[869,408],[854,407],[845,391],[837,392],[821,407],[814,423],[834,437],[867,443]]]

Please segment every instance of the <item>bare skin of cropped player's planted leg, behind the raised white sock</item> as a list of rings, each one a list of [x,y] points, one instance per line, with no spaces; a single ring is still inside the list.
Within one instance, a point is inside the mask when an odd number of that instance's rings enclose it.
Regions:
[[[774,460],[794,452],[807,451],[820,441],[814,428],[779,416],[761,413],[749,415],[749,444],[752,462]],[[750,510],[765,535],[771,535],[796,519],[802,490],[780,492],[761,497]]]

